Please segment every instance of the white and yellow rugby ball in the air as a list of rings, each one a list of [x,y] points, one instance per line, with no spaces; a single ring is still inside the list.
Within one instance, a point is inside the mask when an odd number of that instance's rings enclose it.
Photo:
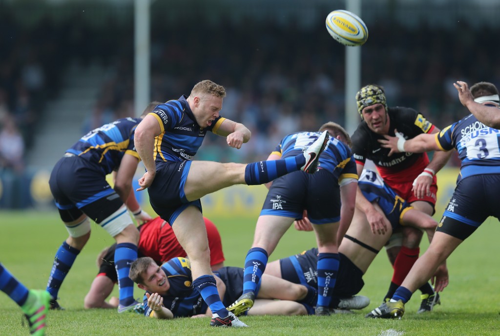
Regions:
[[[358,46],[366,42],[368,29],[363,20],[348,10],[333,10],[326,16],[326,30],[337,42]]]

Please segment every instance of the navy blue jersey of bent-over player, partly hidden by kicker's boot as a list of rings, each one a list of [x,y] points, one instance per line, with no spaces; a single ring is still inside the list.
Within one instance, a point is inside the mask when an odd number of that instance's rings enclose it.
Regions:
[[[310,146],[321,133],[319,132],[297,132],[281,139],[272,154],[281,155],[281,159],[294,157]],[[331,173],[340,183],[343,178],[357,179],[356,164],[350,149],[337,139],[330,137],[328,146],[319,157],[319,169],[325,169]]]

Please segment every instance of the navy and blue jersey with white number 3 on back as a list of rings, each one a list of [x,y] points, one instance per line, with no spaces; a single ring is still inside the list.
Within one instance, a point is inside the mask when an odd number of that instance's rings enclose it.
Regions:
[[[446,127],[435,139],[441,150],[458,151],[461,178],[500,173],[500,130],[487,127],[473,115]]]

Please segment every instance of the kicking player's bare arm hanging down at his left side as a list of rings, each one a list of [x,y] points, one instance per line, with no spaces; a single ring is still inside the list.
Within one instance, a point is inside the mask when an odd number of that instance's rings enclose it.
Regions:
[[[156,175],[156,166],[153,159],[154,138],[161,133],[158,121],[153,116],[147,115],[137,125],[135,129],[135,150],[139,154],[146,172],[139,178],[139,188],[137,191],[144,190],[151,185]]]

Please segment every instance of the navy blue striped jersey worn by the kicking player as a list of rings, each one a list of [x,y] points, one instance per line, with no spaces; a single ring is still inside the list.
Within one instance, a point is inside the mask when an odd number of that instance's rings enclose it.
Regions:
[[[154,161],[192,160],[198,151],[206,131],[217,134],[217,129],[225,118],[216,118],[209,127],[201,128],[196,123],[187,97],[169,100],[149,113],[158,120],[161,133],[154,140]]]

